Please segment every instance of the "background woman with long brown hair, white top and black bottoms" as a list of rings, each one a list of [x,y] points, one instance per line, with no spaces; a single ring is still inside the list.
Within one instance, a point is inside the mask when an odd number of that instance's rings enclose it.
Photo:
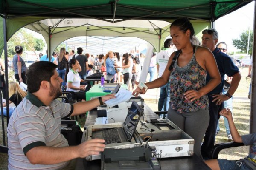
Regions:
[[[133,61],[128,53],[123,54],[123,63],[122,63],[122,72],[124,77],[124,83],[128,86],[130,90],[130,80],[131,80],[131,71],[133,67]]]

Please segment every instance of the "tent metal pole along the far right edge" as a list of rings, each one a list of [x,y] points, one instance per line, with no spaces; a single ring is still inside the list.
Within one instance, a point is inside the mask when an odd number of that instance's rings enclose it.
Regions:
[[[255,94],[255,90],[256,90],[256,3],[254,4],[254,24],[253,24],[253,65],[252,65],[252,89],[251,89],[251,100],[250,100],[250,133],[255,133],[256,132],[256,105],[255,105],[255,101],[256,101],[256,94]]]

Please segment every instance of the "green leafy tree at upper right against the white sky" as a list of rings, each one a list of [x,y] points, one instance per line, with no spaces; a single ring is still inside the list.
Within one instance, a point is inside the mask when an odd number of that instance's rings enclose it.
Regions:
[[[241,50],[241,52],[247,53],[247,45],[248,45],[248,34],[249,30],[243,31],[240,35],[240,39],[232,39],[233,45]],[[248,54],[250,56],[253,54],[253,31],[250,30],[250,40],[249,40],[249,51]]]

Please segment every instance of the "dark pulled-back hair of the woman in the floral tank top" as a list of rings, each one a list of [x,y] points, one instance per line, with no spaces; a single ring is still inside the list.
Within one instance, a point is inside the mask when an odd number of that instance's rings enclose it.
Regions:
[[[188,18],[178,18],[171,24],[170,28],[172,28],[172,26],[179,27],[180,31],[183,33],[185,33],[187,30],[190,30],[190,39],[192,39],[192,36],[195,34],[192,23],[190,23]]]

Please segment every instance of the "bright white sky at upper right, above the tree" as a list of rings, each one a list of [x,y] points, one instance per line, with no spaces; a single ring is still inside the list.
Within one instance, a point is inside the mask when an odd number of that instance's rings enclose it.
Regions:
[[[228,51],[238,51],[232,44],[232,39],[239,39],[240,34],[253,30],[254,1],[246,6],[225,15],[215,21],[215,29],[219,34],[218,42],[226,42]]]

